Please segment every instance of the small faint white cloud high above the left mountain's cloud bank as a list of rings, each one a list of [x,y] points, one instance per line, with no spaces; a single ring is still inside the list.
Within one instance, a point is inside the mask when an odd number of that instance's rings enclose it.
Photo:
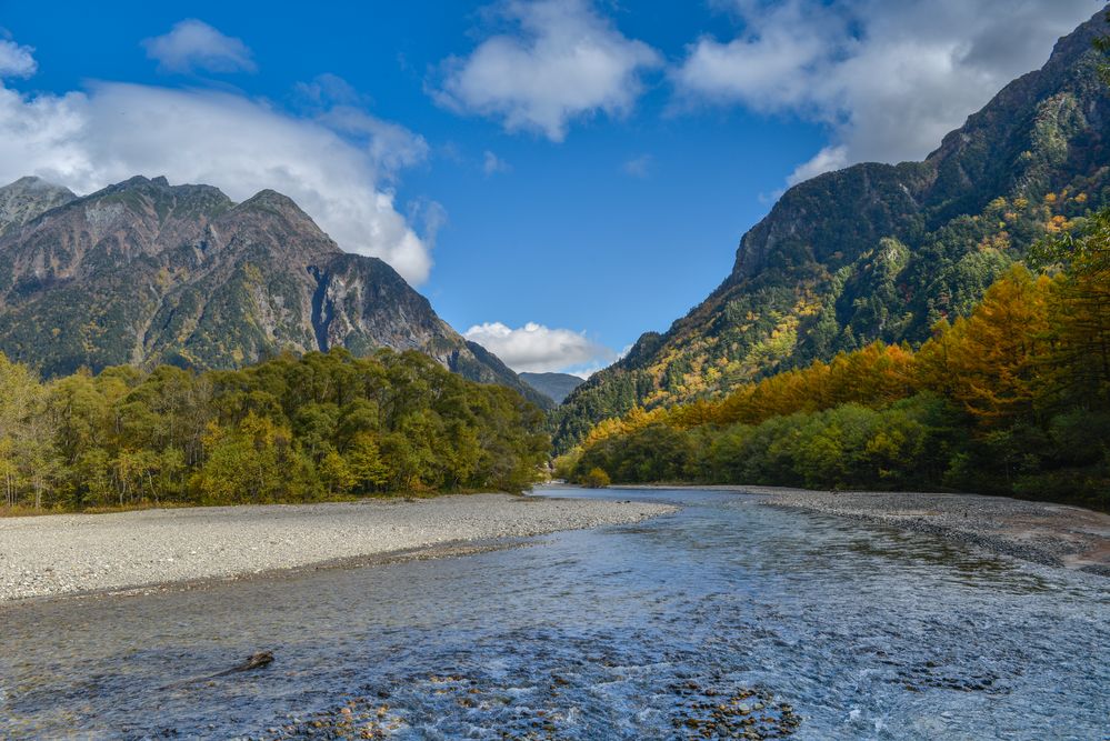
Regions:
[[[164,36],[142,42],[147,57],[168,72],[253,72],[251,51],[242,39],[220,33],[194,18],[180,21]]]

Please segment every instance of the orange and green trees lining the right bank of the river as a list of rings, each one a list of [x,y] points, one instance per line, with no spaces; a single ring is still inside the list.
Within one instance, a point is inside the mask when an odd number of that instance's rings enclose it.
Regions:
[[[1110,509],[1110,212],[916,352],[876,342],[716,400],[606,420],[557,460],[616,483],[957,489]]]

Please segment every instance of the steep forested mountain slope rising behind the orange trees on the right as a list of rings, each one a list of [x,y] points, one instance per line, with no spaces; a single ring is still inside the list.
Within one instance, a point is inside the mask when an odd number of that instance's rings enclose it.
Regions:
[[[552,413],[567,449],[598,421],[719,394],[873,340],[920,343],[1047,233],[1110,203],[1100,11],[922,162],[857,164],[790,188],[731,274]]]

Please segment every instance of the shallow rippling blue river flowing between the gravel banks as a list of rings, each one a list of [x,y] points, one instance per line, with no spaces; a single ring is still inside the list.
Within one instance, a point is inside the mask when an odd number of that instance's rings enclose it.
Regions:
[[[0,737],[772,738],[797,715],[801,739],[1110,738],[1106,579],[743,494],[544,493],[683,509],[9,608]],[[262,649],[270,667],[204,679]]]

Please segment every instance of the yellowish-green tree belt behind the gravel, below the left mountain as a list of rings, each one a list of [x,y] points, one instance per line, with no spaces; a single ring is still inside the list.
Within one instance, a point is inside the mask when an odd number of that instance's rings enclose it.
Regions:
[[[0,505],[18,511],[519,492],[539,409],[418,352],[242,370],[109,368],[41,382],[0,354]]]

